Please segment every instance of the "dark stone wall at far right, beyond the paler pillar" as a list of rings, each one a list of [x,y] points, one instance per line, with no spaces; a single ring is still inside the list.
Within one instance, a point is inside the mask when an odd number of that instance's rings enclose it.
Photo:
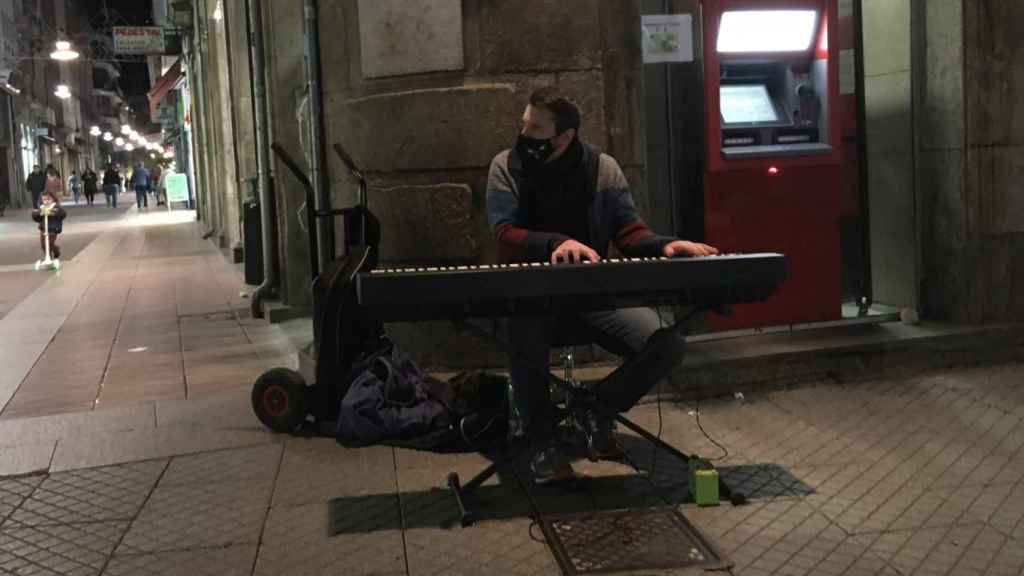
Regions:
[[[1024,18],[1018,2],[939,0],[920,109],[923,298],[955,322],[1024,319]]]

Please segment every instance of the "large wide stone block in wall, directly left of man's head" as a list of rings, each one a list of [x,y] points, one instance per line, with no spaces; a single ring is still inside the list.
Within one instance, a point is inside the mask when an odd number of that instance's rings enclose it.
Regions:
[[[326,97],[327,139],[341,141],[365,171],[485,168],[518,131],[525,96],[512,84],[407,90],[355,99]],[[345,169],[334,154],[328,173]]]

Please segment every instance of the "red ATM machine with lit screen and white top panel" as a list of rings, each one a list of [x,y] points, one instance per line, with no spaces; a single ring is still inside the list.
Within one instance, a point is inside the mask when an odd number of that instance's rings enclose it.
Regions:
[[[836,0],[703,0],[705,240],[782,252],[768,301],[717,329],[842,316]]]

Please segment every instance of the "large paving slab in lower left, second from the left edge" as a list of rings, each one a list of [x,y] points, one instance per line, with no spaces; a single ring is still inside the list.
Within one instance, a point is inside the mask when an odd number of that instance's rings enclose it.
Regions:
[[[269,499],[269,483],[158,486],[117,551],[255,544]]]

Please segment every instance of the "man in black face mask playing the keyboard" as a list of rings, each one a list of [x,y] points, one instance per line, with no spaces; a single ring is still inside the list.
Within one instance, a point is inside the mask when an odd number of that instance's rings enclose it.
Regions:
[[[498,154],[487,176],[487,219],[502,262],[598,262],[613,243],[625,256],[707,256],[706,244],[654,234],[637,214],[626,176],[607,154],[582,141],[580,109],[554,88],[529,97],[515,146]],[[530,467],[538,484],[573,478],[553,438],[554,413],[546,367],[556,320],[512,317],[511,378],[519,415],[536,450]],[[559,317],[564,328],[589,334],[612,354],[630,357],[659,327],[651,308],[621,308]],[[599,457],[622,448],[606,415],[585,421]]]

